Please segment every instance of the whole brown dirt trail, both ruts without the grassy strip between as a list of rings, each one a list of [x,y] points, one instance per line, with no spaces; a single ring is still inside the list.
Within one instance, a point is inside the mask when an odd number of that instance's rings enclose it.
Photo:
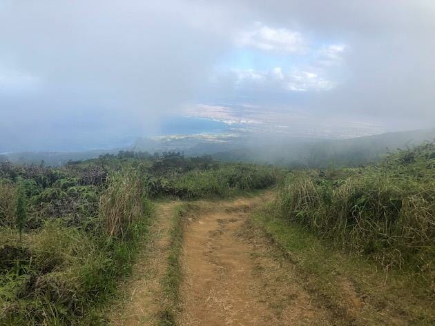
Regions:
[[[340,261],[329,272],[331,277],[302,270],[297,257],[283,252],[251,218],[256,207],[270,198],[270,192],[263,192],[187,205],[182,215],[182,254],[176,258],[182,281],[180,287],[174,285],[175,299],[164,294],[168,286],[164,280],[170,270],[174,208],[180,202],[157,205],[151,238],[142,248],[133,277],[120,286],[124,300],[111,309],[111,324],[409,325],[382,300],[360,292]],[[165,315],[167,306],[174,307],[171,318]]]

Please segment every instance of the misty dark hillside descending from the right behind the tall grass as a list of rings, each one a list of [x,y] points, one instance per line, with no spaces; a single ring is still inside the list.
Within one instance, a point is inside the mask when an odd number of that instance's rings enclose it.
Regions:
[[[360,166],[395,152],[435,139],[434,130],[389,132],[351,139],[258,138],[238,149],[216,152],[222,161],[251,161],[289,167]]]

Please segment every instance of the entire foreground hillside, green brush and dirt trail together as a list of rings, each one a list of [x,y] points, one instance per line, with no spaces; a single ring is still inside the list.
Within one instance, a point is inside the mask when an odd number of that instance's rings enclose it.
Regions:
[[[0,324],[432,325],[434,160],[1,163]]]

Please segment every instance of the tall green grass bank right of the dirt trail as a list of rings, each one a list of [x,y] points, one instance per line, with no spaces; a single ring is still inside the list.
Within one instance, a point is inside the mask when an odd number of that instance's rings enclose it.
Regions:
[[[351,252],[434,276],[433,143],[387,156],[377,166],[293,172],[277,205],[291,222]]]

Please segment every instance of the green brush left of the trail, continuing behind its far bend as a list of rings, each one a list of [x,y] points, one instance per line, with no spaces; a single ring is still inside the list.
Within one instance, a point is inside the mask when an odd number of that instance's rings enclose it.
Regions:
[[[179,153],[0,164],[1,325],[97,323],[90,312],[128,274],[151,199],[226,197],[277,179],[272,167]]]

